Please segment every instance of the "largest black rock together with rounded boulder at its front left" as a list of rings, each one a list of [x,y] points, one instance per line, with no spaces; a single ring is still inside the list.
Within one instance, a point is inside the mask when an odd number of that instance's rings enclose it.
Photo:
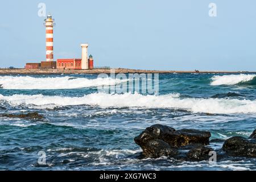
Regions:
[[[199,130],[175,130],[164,125],[153,125],[134,138],[147,158],[160,156],[175,156],[179,152],[177,147],[189,144],[209,144],[210,133]]]

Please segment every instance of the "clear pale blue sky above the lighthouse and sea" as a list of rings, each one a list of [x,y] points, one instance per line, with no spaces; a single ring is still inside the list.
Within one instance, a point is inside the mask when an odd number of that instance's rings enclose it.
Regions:
[[[39,3],[55,19],[55,60],[88,43],[99,67],[256,71],[255,0],[1,1],[1,68],[46,59]]]

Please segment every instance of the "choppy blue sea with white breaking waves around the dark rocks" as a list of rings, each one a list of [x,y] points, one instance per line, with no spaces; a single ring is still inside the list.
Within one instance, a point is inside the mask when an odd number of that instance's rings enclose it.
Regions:
[[[158,92],[102,92],[131,81],[98,75],[2,75],[0,170],[255,170],[256,159],[209,163],[140,158],[134,137],[154,124],[248,138],[256,127],[256,75],[166,73]],[[151,81],[148,77],[147,81]],[[139,80],[142,82],[143,78]],[[143,85],[143,83],[141,83]],[[218,150],[223,143],[210,143]]]

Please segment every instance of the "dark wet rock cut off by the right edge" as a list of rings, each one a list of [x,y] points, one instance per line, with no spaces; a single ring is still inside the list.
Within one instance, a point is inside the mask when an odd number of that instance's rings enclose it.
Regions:
[[[230,156],[256,158],[256,139],[232,137],[225,141],[222,150]]]

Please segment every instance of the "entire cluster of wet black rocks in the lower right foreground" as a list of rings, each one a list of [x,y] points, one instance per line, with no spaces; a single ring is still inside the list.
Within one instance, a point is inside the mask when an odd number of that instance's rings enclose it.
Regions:
[[[135,137],[134,142],[142,148],[141,158],[170,156],[178,160],[199,162],[209,161],[214,152],[217,160],[232,160],[232,157],[256,158],[256,130],[248,139],[232,137],[227,140],[209,140],[210,137],[209,131],[175,130],[169,126],[152,125]],[[213,150],[209,147],[213,142],[224,144],[222,148]]]

